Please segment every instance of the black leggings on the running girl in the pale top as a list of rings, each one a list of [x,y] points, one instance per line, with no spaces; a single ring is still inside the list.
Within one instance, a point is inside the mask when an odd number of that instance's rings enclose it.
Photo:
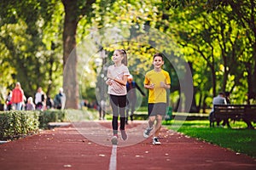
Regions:
[[[117,96],[117,95],[110,94],[110,105],[113,110],[113,119],[112,119],[113,134],[117,134],[119,115],[120,115],[120,130],[125,130],[126,95]]]

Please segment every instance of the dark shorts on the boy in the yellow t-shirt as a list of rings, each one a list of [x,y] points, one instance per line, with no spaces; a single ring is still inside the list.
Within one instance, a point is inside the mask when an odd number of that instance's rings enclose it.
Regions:
[[[148,104],[148,116],[166,116],[166,103]]]

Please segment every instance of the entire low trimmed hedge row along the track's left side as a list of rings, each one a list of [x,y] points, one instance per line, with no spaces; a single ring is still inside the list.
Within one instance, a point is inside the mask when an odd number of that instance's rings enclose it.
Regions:
[[[1,111],[0,140],[18,139],[48,128],[49,122],[65,122],[66,111]]]

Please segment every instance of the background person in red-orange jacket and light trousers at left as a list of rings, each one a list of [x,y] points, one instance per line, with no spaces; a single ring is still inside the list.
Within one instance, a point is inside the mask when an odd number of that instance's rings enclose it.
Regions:
[[[24,101],[24,92],[21,88],[20,82],[16,82],[15,88],[12,91],[12,106],[14,110],[21,111]]]

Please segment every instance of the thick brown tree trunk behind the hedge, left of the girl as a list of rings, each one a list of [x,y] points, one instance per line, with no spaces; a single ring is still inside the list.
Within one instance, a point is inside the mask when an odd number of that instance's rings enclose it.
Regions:
[[[79,22],[77,0],[62,0],[65,8],[63,31],[63,89],[66,94],[65,108],[78,109],[79,83],[77,78],[76,30]]]

